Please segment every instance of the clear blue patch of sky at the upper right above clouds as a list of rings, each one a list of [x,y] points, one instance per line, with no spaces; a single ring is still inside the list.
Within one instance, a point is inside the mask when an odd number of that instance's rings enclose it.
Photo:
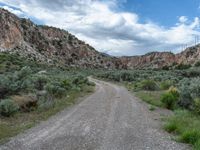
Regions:
[[[180,16],[200,16],[200,0],[127,0],[122,9],[137,13],[142,20],[152,20],[170,27]]]

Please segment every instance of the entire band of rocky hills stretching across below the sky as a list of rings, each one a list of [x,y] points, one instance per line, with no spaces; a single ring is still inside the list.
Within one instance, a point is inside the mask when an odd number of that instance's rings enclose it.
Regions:
[[[142,56],[112,57],[97,52],[65,30],[38,26],[0,8],[0,51],[55,65],[84,68],[162,68],[194,64],[200,60],[200,45],[179,54],[152,52]]]

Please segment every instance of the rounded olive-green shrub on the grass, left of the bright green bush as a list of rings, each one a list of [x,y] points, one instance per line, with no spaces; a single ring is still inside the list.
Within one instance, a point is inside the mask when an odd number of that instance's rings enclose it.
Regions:
[[[141,88],[143,90],[155,91],[156,89],[158,89],[158,86],[153,80],[143,80],[141,82]]]

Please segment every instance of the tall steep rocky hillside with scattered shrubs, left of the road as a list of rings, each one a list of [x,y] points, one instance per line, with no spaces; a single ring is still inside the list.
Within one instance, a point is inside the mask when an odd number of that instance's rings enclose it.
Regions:
[[[35,25],[1,8],[0,26],[0,51],[65,66],[114,68],[117,63],[65,30]]]

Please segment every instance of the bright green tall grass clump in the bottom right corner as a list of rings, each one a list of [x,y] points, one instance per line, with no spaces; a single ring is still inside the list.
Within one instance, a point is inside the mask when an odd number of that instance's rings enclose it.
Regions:
[[[200,149],[200,116],[187,110],[177,110],[166,120],[164,129],[178,136],[178,140]]]

